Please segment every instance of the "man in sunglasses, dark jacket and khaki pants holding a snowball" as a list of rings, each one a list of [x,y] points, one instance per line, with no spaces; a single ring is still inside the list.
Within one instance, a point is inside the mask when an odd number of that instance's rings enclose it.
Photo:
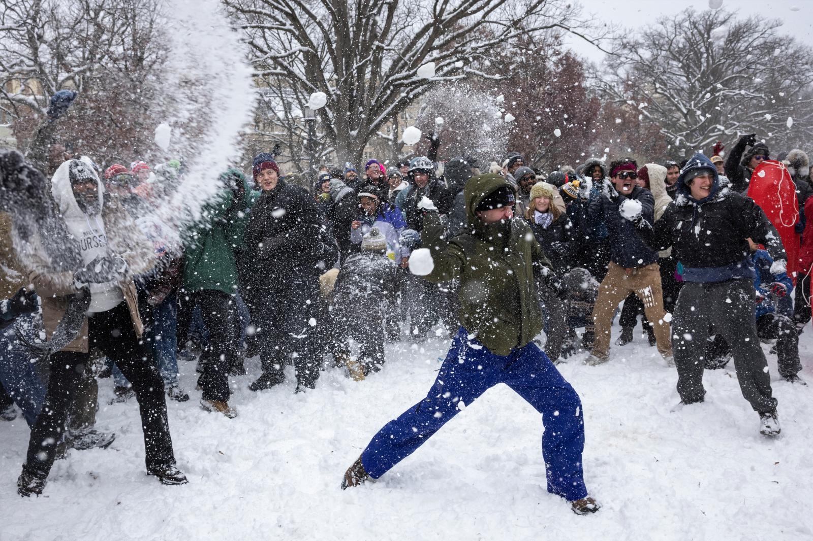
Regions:
[[[672,339],[663,310],[658,253],[645,244],[630,219],[625,219],[640,215],[654,223],[654,199],[652,193],[636,184],[637,170],[630,158],[611,162],[613,188],[590,201],[590,218],[606,223],[611,254],[593,309],[595,340],[586,361],[591,366],[610,359],[610,327],[615,309],[633,292],[641,298],[646,318],[654,325],[659,353],[672,365]]]

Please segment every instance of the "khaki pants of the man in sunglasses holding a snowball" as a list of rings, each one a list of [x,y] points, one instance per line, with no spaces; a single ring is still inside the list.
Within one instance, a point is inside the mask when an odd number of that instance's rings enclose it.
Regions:
[[[635,293],[644,303],[646,318],[652,323],[658,351],[663,356],[672,355],[672,337],[669,323],[663,320],[663,290],[660,282],[658,263],[651,263],[633,269],[630,274],[624,267],[610,262],[607,274],[598,288],[598,300],[593,308],[593,322],[596,327],[596,339],[593,343],[593,355],[606,359],[610,355],[610,326],[615,309],[630,293]]]

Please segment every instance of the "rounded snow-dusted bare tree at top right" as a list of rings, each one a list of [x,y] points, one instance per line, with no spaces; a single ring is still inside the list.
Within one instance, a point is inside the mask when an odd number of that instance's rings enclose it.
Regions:
[[[659,124],[681,151],[749,132],[780,144],[809,140],[813,54],[780,26],[724,10],[659,19],[619,39],[604,93]]]

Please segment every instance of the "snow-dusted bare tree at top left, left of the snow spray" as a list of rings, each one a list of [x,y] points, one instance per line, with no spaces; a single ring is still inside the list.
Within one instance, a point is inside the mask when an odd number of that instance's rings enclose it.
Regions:
[[[24,146],[50,97],[80,97],[60,128],[100,162],[150,149],[161,107],[159,0],[0,0],[0,109]]]

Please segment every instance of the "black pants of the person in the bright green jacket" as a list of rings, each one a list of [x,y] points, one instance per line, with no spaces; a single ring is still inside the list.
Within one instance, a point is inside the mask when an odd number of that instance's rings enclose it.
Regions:
[[[198,383],[203,389],[203,400],[228,402],[228,371],[237,362],[238,341],[237,302],[233,295],[204,289],[189,294],[198,305],[209,339],[201,353],[203,374]]]

